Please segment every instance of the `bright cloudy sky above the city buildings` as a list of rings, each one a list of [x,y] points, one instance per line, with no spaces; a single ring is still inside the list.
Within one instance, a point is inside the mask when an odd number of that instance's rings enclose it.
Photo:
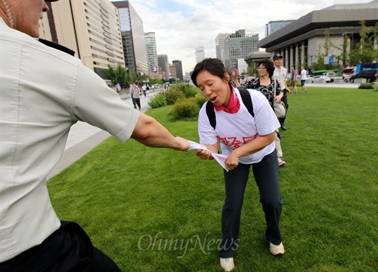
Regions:
[[[196,48],[203,46],[206,58],[216,57],[218,34],[245,29],[246,34],[258,33],[261,40],[269,21],[296,20],[335,4],[370,1],[129,0],[143,21],[144,32],[155,32],[157,54],[167,54],[171,64],[180,60],[184,76],[196,65]]]

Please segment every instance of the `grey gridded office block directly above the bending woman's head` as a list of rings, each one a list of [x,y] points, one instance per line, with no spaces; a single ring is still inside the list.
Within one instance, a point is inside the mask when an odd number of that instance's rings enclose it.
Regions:
[[[258,34],[245,34],[245,30],[227,36],[225,39],[225,67],[237,68],[238,59],[244,59],[251,52],[258,51]]]

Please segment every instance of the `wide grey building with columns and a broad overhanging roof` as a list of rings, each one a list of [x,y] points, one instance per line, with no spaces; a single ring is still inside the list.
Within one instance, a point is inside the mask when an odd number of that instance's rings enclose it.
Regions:
[[[378,23],[377,10],[378,0],[369,3],[337,4],[314,10],[265,37],[258,43],[258,47],[265,48],[271,57],[280,52],[284,56],[285,67],[294,65],[298,69],[301,64],[311,67],[317,61],[318,48],[324,44],[327,32],[332,43],[338,48],[342,48],[344,36],[348,36],[350,51],[359,43],[360,22],[365,21],[366,26]],[[375,40],[375,46],[377,43]],[[332,48],[329,54],[340,55],[341,52],[341,49]],[[346,63],[342,65],[346,66]]]

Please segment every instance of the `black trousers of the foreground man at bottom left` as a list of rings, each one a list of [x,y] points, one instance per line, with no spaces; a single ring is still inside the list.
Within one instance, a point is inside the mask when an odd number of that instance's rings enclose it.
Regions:
[[[60,229],[42,244],[1,262],[7,272],[121,272],[107,255],[93,247],[87,233],[75,222],[62,221]]]

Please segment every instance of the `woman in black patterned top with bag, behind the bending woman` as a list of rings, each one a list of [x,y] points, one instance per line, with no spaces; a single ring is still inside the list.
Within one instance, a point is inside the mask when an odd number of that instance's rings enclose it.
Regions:
[[[285,105],[281,102],[281,98],[284,96],[283,90],[281,90],[280,83],[272,79],[274,72],[274,63],[269,61],[269,59],[264,59],[258,63],[258,79],[252,82],[252,89],[258,90],[265,95],[272,109],[276,109],[276,115],[278,112],[284,114],[286,109]],[[274,92],[276,90],[276,92]],[[279,116],[277,116],[279,118]],[[276,129],[276,138],[274,139],[276,143],[277,156],[278,156],[278,166],[286,165],[285,161],[282,160],[282,148],[280,141],[279,129]]]

